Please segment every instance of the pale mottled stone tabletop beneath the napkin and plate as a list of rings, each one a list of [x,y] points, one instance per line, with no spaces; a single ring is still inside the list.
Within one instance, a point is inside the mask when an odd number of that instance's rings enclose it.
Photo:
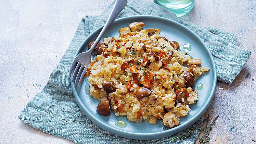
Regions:
[[[98,15],[112,0],[5,0],[0,9],[0,143],[72,143],[18,119],[26,104],[46,84],[68,47],[78,23]],[[212,143],[253,143],[255,118],[256,1],[196,0],[183,18],[237,34],[238,46],[252,52],[235,81],[217,84],[207,113],[218,114],[210,133]],[[220,90],[218,88],[224,88]]]

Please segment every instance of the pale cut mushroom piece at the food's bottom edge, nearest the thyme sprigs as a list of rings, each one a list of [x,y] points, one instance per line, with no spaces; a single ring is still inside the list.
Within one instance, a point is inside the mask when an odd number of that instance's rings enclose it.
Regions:
[[[163,125],[169,126],[170,128],[178,126],[180,125],[180,119],[172,112],[168,112],[163,116]]]

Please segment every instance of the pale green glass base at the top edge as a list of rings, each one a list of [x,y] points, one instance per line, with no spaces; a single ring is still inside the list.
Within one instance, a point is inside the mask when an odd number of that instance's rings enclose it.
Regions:
[[[195,0],[155,0],[155,2],[181,17],[193,9]]]

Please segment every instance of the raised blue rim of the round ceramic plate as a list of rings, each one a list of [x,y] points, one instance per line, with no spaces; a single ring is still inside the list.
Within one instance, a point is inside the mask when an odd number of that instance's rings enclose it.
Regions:
[[[192,126],[205,112],[206,110],[209,108],[212,99],[214,97],[214,93],[215,93],[215,89],[216,89],[216,83],[217,83],[217,74],[216,74],[216,65],[214,63],[213,60],[213,56],[209,50],[209,48],[206,46],[206,44],[202,41],[202,39],[192,30],[190,30],[189,28],[187,28],[186,26],[172,20],[172,19],[168,19],[168,18],[163,18],[163,17],[159,17],[159,16],[148,16],[148,15],[137,15],[137,16],[128,16],[128,17],[123,17],[123,18],[117,18],[114,20],[113,23],[115,22],[119,22],[128,18],[153,18],[153,19],[160,19],[160,20],[166,20],[166,21],[170,21],[172,23],[175,23],[179,26],[181,26],[182,28],[188,30],[189,32],[191,32],[191,34],[195,37],[197,37],[197,39],[203,44],[204,48],[206,49],[207,53],[210,55],[210,59],[211,59],[211,63],[213,65],[213,87],[211,89],[211,93],[209,95],[209,98],[207,100],[207,102],[203,105],[202,109],[195,115],[193,116],[190,120],[186,121],[185,123],[183,123],[181,125],[181,127],[177,126],[168,130],[164,130],[164,131],[160,131],[160,132],[153,132],[153,133],[134,133],[134,132],[127,132],[127,131],[123,131],[111,126],[108,126],[107,124],[101,122],[100,120],[98,120],[93,114],[91,114],[86,107],[83,105],[83,102],[81,101],[81,99],[79,98],[79,95],[75,89],[75,85],[74,82],[70,82],[71,83],[71,88],[74,94],[74,98],[79,106],[79,108],[83,111],[83,113],[86,115],[87,118],[89,118],[94,124],[96,124],[97,126],[99,126],[100,128],[114,134],[120,137],[124,137],[124,138],[130,138],[130,139],[139,139],[139,140],[149,140],[149,139],[158,139],[158,138],[165,138],[174,134],[177,134],[179,132],[181,132],[182,130],[188,128],[189,126]],[[79,54],[79,51],[81,51],[81,49],[83,48],[83,45],[85,44],[85,42],[87,41],[88,38],[90,38],[91,35],[93,35],[94,33],[96,33],[96,31],[100,30],[103,28],[104,25],[100,26],[99,28],[97,28],[96,30],[94,30],[93,32],[91,32],[83,41],[83,43],[80,45],[80,47],[77,49],[76,54],[74,55],[74,58],[76,55]],[[82,85],[80,85],[82,86]],[[169,134],[168,134],[169,133]]]

